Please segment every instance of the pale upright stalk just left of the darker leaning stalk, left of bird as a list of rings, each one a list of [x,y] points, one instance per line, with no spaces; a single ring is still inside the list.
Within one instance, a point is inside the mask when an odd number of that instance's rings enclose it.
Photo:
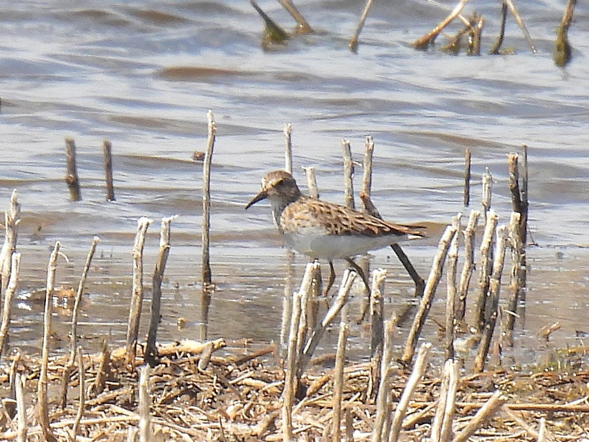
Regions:
[[[131,307],[129,309],[129,321],[127,325],[127,364],[135,365],[135,347],[137,346],[137,334],[139,332],[139,318],[141,306],[143,306],[143,248],[145,234],[152,220],[142,216],[137,220],[137,233],[133,246],[133,289],[131,290]]]

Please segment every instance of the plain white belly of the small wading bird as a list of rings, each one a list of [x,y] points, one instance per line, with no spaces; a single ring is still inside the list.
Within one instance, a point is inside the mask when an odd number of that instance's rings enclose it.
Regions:
[[[319,230],[319,229],[318,229]],[[355,255],[365,255],[369,250],[381,249],[406,239],[406,236],[369,236],[326,235],[325,231],[317,232],[305,229],[304,233],[284,233],[284,242],[299,253],[311,258],[328,260],[345,259]]]

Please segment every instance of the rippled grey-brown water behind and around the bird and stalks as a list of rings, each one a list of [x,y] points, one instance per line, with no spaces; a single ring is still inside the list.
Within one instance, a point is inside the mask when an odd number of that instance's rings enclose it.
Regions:
[[[452,2],[442,2],[448,8]],[[285,27],[292,20],[277,3],[262,2]],[[589,331],[589,64],[587,9],[579,6],[570,38],[574,59],[565,70],[551,61],[561,2],[522,2],[535,39],[531,54],[509,22],[505,45],[514,55],[452,57],[410,43],[446,11],[425,1],[375,5],[358,54],[347,49],[358,2],[297,2],[319,29],[285,48],[260,48],[262,21],[248,2],[11,2],[0,17],[0,201],[18,189],[22,203],[19,249],[22,299],[15,302],[11,345],[36,352],[49,249],[60,240],[70,258],[59,283],[76,285],[92,236],[101,243],[87,284],[80,331],[85,344],[124,339],[130,299],[131,247],[136,220],[155,220],[145,247],[147,298],[158,244],[158,220],[178,214],[164,282],[163,340],[197,337],[201,330],[201,166],[206,111],[216,115],[213,159],[211,263],[217,291],[209,337],[279,337],[286,253],[267,207],[243,211],[264,171],[283,166],[283,123],[293,124],[294,169],[314,165],[323,198],[342,202],[340,139],[361,159],[374,137],[373,199],[399,222],[447,223],[464,210],[462,158],[472,150],[480,198],[485,167],[494,176],[493,204],[509,212],[506,157],[530,146],[528,298],[518,322],[515,357],[529,361],[547,344],[535,337],[560,321],[555,347],[574,345]],[[483,50],[497,31],[495,1],[472,1],[487,19]],[[472,9],[470,9],[472,11]],[[468,12],[468,8],[467,11]],[[455,31],[457,28],[454,28]],[[445,37],[439,38],[439,44]],[[82,181],[79,203],[68,202],[64,137],[75,138]],[[117,201],[104,202],[101,141],[114,152]],[[361,176],[361,171],[357,177]],[[359,187],[359,182],[357,183]],[[478,208],[478,207],[475,207]],[[422,275],[435,240],[406,248]],[[300,279],[306,258],[294,260]],[[412,301],[401,266],[380,251],[373,266],[391,275],[389,311]],[[342,265],[337,268],[341,273]],[[296,283],[296,282],[295,282]],[[445,291],[442,284],[440,293]],[[146,299],[148,309],[148,299]],[[442,321],[439,296],[432,315]],[[68,312],[54,321],[54,347],[67,341]],[[178,320],[184,319],[183,327]],[[182,321],[180,321],[182,322]],[[144,324],[145,326],[145,321]],[[438,340],[430,322],[428,339]],[[355,329],[363,355],[365,330]],[[326,347],[329,347],[327,342]]]

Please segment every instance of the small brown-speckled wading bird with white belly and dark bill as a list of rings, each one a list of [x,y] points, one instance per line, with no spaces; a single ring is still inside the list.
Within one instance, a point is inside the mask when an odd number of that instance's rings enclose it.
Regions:
[[[368,279],[352,256],[366,255],[411,236],[423,238],[420,227],[395,224],[339,204],[328,203],[300,193],[293,176],[284,170],[269,172],[262,179],[262,190],[247,203],[246,209],[267,199],[272,206],[274,224],[284,242],[299,253],[329,262],[329,282],[333,285],[334,259],[345,259],[362,277]]]

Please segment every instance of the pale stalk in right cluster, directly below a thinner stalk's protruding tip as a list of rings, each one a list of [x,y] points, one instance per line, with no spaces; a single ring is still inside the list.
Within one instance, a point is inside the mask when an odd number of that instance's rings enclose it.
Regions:
[[[481,239],[481,261],[479,263],[478,297],[475,305],[475,319],[473,326],[481,330],[485,324],[485,308],[489,292],[489,277],[493,269],[493,239],[498,216],[495,210],[489,210],[485,232]]]

